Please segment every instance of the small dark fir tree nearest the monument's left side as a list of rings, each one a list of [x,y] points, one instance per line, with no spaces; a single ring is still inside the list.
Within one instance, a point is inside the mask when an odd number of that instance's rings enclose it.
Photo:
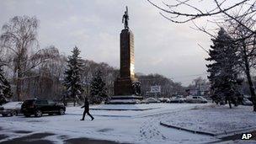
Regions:
[[[107,98],[105,83],[102,79],[102,72],[96,72],[93,80],[90,84],[91,101],[93,103],[101,103],[101,101]]]

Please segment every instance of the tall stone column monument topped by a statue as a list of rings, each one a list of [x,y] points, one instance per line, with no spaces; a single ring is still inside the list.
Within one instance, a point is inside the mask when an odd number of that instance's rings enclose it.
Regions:
[[[141,99],[141,97],[133,95],[134,88],[132,83],[136,81],[134,72],[134,36],[131,29],[129,29],[128,20],[128,8],[126,7],[122,19],[125,28],[120,33],[120,77],[115,81],[115,96],[111,99],[130,99],[135,102],[136,99]]]

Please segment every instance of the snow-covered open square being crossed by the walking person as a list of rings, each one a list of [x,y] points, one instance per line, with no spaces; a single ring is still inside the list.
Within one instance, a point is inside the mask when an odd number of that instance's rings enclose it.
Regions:
[[[30,135],[14,133],[12,131],[49,132],[56,135],[46,136],[45,139],[56,143],[63,143],[65,139],[88,137],[110,141],[127,143],[205,143],[217,141],[213,136],[205,136],[179,131],[159,125],[160,121],[172,120],[179,113],[188,112],[184,115],[187,119],[189,111],[194,113],[195,108],[209,104],[137,104],[125,105],[136,109],[157,108],[149,110],[91,110],[95,120],[89,117],[80,121],[83,109],[80,107],[67,107],[67,115],[43,116],[40,118],[0,117],[2,133],[9,137],[1,141],[8,141],[15,137]],[[122,107],[122,105],[107,105],[108,108]],[[91,108],[104,108],[95,105]],[[229,109],[227,109],[229,111]],[[243,113],[243,112],[242,112]],[[242,114],[241,114],[242,115]],[[191,115],[190,115],[191,116]],[[205,115],[209,119],[215,119],[216,115]],[[182,120],[182,116],[179,115]],[[193,118],[192,118],[193,119]],[[178,119],[176,119],[178,120]],[[232,119],[230,119],[232,120]],[[186,122],[189,120],[185,120]],[[0,143],[1,143],[0,141]]]

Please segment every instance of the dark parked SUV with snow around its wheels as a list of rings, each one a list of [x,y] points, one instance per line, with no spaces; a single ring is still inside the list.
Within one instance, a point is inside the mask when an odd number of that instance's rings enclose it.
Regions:
[[[29,99],[25,100],[21,105],[21,112],[29,117],[30,115],[35,115],[35,117],[40,117],[43,114],[48,115],[64,115],[66,108],[63,104],[56,104],[49,100],[39,100],[39,99]]]

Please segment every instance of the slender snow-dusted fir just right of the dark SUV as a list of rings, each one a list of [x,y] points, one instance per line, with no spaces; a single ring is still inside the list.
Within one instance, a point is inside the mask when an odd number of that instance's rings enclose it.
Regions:
[[[79,57],[80,51],[77,46],[72,51],[72,56],[68,56],[66,77],[64,79],[64,86],[67,88],[68,99],[73,99],[73,105],[76,105],[77,99],[82,98],[83,83],[81,80],[81,72],[83,62]]]

